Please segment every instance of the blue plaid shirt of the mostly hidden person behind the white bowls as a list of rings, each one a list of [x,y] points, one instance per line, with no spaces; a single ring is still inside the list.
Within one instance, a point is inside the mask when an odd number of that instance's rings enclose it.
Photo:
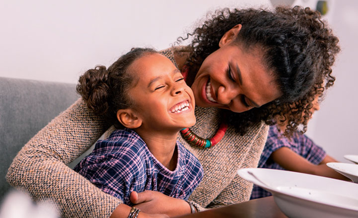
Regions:
[[[299,154],[313,164],[319,164],[326,157],[326,152],[317,146],[310,138],[304,134],[297,133],[288,140],[282,136],[276,126],[270,126],[267,142],[261,154],[259,168],[284,169],[278,163],[274,163],[269,157],[279,148],[287,147]],[[250,200],[271,196],[271,193],[254,184]]]

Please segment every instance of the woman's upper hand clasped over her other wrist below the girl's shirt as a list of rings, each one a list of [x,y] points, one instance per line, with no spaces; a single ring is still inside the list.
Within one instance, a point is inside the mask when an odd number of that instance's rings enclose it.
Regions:
[[[133,191],[130,200],[134,207],[148,214],[166,214],[170,217],[190,214],[190,206],[181,199],[172,198],[157,191]]]

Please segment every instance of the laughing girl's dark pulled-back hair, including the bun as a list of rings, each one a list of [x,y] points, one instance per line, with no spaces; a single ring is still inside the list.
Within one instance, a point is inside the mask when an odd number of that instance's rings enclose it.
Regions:
[[[149,48],[133,48],[108,69],[98,65],[87,70],[79,79],[77,93],[82,96],[87,107],[95,114],[104,116],[109,125],[123,128],[117,119],[117,111],[134,104],[128,95],[128,89],[138,79],[128,68],[136,59],[153,53],[158,52]]]

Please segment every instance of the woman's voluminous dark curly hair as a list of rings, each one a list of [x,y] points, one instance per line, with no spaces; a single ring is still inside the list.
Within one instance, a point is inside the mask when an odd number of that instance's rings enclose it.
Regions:
[[[191,81],[203,60],[219,49],[221,37],[237,24],[242,28],[235,43],[248,50],[263,48],[264,65],[273,72],[282,96],[242,113],[225,110],[224,119],[242,135],[254,123],[263,120],[272,125],[277,119],[287,121],[286,136],[291,136],[299,124],[303,124],[301,132],[305,132],[312,101],[335,81],[331,67],[340,51],[338,38],[321,20],[321,14],[310,8],[217,10],[186,38],[178,38],[179,44],[192,39],[192,52],[186,63]]]

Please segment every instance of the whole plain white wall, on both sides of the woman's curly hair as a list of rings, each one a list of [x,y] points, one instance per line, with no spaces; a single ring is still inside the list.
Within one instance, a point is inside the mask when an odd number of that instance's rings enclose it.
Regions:
[[[315,2],[294,4],[314,7]],[[330,3],[326,18],[340,37],[342,53],[334,67],[335,86],[308,134],[346,162],[343,155],[358,155],[358,1]],[[260,5],[271,6],[269,0],[1,0],[0,76],[76,83],[87,69],[108,66],[132,47],[168,48],[208,10]]]

